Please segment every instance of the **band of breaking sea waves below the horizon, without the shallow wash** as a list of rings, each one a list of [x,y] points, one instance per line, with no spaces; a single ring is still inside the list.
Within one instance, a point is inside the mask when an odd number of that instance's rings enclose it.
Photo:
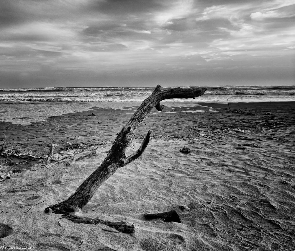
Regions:
[[[189,86],[183,86],[190,88]],[[167,89],[173,87],[162,87]],[[196,100],[180,102],[271,102],[294,101],[295,86],[206,86],[207,91]],[[63,102],[142,102],[155,87],[47,87],[0,89],[0,101]]]

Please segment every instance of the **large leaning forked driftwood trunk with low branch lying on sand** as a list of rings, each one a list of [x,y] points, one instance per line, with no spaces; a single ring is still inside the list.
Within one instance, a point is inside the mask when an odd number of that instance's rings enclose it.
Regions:
[[[148,131],[140,148],[136,152],[134,152],[130,156],[126,156],[125,151],[130,141],[132,140],[135,131],[141,125],[142,121],[150,113],[150,111],[153,110],[154,107],[158,111],[163,110],[164,106],[160,105],[160,101],[175,98],[195,98],[203,95],[206,91],[206,88],[198,87],[173,88],[164,91],[161,91],[160,88],[160,85],[157,85],[150,97],[142,102],[140,107],[136,110],[134,115],[118,134],[112,145],[112,148],[109,150],[106,158],[101,163],[101,165],[86,180],[84,180],[84,182],[77,188],[76,192],[73,193],[73,195],[71,195],[65,201],[45,208],[45,213],[49,213],[51,211],[53,213],[62,213],[64,214],[64,217],[75,222],[80,221],[81,223],[90,224],[94,224],[94,222],[97,222],[106,224],[106,221],[101,221],[100,219],[97,219],[97,221],[95,221],[95,219],[93,218],[91,218],[91,220],[87,220],[85,217],[79,217],[73,215],[73,213],[83,208],[83,206],[85,206],[86,203],[90,201],[90,199],[92,198],[96,190],[101,186],[101,184],[109,177],[111,177],[118,168],[124,167],[125,165],[140,157],[140,155],[143,153],[149,143],[151,133],[150,131]],[[130,233],[132,230],[130,229],[130,223],[128,222],[121,222],[122,227],[118,226],[118,221],[109,221],[106,225],[115,227],[120,232]],[[126,226],[126,229],[124,228],[124,226]],[[132,226],[134,229],[134,225]]]

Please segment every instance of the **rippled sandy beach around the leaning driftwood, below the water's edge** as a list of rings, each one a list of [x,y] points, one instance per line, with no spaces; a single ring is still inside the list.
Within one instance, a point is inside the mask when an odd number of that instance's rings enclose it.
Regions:
[[[47,206],[71,195],[99,166],[139,104],[93,107],[23,125],[0,122],[4,151],[46,158],[50,145],[57,145],[47,168],[36,160],[0,157],[0,246],[295,249],[295,102],[230,104],[232,110],[250,110],[254,115],[230,113],[228,105],[220,103],[163,102],[162,112],[154,109],[130,149],[136,150],[151,130],[145,152],[118,169],[80,212],[131,222],[136,225],[133,235],[44,213]],[[182,147],[191,152],[181,153]],[[93,149],[95,156],[78,159]],[[181,223],[143,217],[171,209]]]

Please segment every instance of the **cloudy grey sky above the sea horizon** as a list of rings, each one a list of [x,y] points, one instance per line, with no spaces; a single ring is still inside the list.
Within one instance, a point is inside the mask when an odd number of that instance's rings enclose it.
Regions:
[[[295,84],[295,0],[1,0],[0,88]]]

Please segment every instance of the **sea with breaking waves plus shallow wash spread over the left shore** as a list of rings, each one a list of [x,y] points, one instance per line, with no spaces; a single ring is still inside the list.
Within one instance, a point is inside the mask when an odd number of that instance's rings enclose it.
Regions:
[[[189,86],[183,86],[190,88]],[[161,87],[162,90],[173,87]],[[206,86],[196,99],[169,99],[163,102],[276,102],[295,101],[295,86]],[[46,87],[0,89],[0,121],[30,124],[92,107],[123,109],[139,106],[155,87]],[[183,103],[184,104],[184,103]],[[178,103],[177,106],[179,106]]]

